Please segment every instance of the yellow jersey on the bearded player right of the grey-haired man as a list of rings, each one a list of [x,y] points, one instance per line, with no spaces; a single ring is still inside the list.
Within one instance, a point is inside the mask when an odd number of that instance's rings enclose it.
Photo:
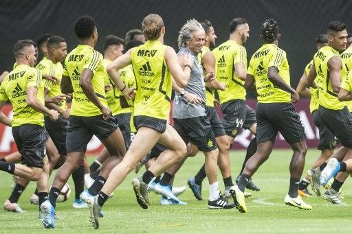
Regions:
[[[234,64],[237,62],[243,63],[245,69],[247,69],[245,47],[237,44],[234,40],[228,40],[212,52],[217,61],[217,80],[226,84],[225,91],[218,91],[220,103],[223,104],[237,99],[245,100],[245,82],[237,78],[234,72]]]

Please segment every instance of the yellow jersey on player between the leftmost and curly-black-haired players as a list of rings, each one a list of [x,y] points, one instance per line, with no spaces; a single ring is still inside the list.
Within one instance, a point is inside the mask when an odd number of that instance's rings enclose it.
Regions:
[[[52,60],[44,57],[41,62],[36,65],[36,69],[39,69],[43,75],[54,75],[58,78],[58,82],[56,83],[51,80],[43,80],[44,88],[49,91],[47,93],[49,97],[55,97],[63,94],[61,93],[61,78],[63,76],[63,65],[61,65],[61,62],[54,64]],[[67,110],[65,100],[61,102],[61,104],[58,104],[58,106],[63,110]]]

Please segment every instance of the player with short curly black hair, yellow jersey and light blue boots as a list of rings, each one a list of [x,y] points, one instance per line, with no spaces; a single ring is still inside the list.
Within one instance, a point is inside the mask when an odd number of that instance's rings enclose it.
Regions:
[[[80,199],[84,202],[87,203],[89,196],[98,194],[111,169],[122,160],[126,152],[118,122],[111,116],[105,97],[103,58],[94,50],[98,40],[96,23],[91,16],[81,16],[75,22],[74,31],[80,44],[66,56],[61,80],[61,91],[73,93],[66,138],[67,159],[56,172],[49,200],[41,204],[44,214],[42,222],[45,228],[50,229],[55,226],[54,212],[58,194],[83,161],[93,134],[102,141],[111,156],[102,165],[100,175],[93,185],[80,194]]]

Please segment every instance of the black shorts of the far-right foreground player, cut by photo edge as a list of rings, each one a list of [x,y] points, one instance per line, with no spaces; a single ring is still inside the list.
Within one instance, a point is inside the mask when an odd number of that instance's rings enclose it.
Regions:
[[[344,147],[352,148],[352,114],[347,106],[342,110],[331,110],[319,106],[322,122]]]

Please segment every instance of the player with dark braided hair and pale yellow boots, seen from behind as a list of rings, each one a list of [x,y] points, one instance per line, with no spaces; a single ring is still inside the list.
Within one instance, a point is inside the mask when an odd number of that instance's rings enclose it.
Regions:
[[[305,166],[307,145],[305,128],[291,103],[297,102],[299,95],[289,86],[289,65],[286,53],[278,47],[280,36],[276,21],[267,19],[261,28],[263,46],[253,54],[245,80],[245,87],[256,88],[258,93],[256,106],[258,149],[245,163],[239,183],[230,189],[236,208],[241,212],[247,212],[243,195],[245,185],[256,170],[269,159],[278,131],[283,134],[294,151],[289,165],[289,191],[285,196],[285,204],[299,209],[311,209],[311,206],[298,196],[298,185]]]

